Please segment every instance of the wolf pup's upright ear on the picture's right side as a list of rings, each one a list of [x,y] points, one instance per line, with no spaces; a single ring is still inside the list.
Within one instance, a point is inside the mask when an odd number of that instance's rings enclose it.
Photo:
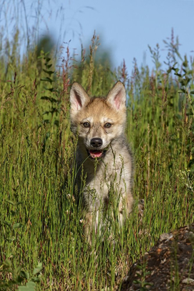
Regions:
[[[126,91],[122,82],[118,81],[107,95],[107,104],[116,110],[126,108]]]

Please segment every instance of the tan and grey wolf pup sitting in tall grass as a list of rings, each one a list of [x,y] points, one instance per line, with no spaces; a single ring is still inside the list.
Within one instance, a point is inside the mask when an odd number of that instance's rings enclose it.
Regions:
[[[78,134],[76,154],[78,191],[86,209],[85,236],[91,244],[92,230],[101,229],[114,189],[114,205],[122,225],[132,211],[132,152],[125,140],[126,93],[116,82],[107,98],[90,98],[77,82],[70,91],[71,130]],[[110,202],[112,203],[112,202]],[[105,221],[105,220],[104,220]]]

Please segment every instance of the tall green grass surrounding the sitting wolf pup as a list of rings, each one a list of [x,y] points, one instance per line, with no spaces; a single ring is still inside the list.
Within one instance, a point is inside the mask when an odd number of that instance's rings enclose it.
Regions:
[[[1,290],[17,290],[31,279],[40,280],[37,290],[116,290],[161,233],[193,222],[193,64],[182,64],[181,71],[176,64],[168,73],[158,65],[150,72],[134,64],[128,77],[124,66],[112,72],[95,63],[94,42],[89,60],[73,67],[69,55],[60,69],[54,58],[37,59],[32,51],[20,61],[17,53],[1,57]],[[76,173],[70,171],[76,139],[69,88],[78,81],[100,96],[116,80],[125,82],[129,95],[134,210],[123,229],[114,230],[115,243],[105,233],[103,247],[97,236],[90,248],[73,193]],[[145,200],[142,220],[139,199]]]

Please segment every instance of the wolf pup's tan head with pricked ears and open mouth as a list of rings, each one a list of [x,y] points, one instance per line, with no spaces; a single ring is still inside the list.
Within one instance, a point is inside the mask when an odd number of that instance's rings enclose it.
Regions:
[[[109,144],[124,134],[126,93],[116,82],[106,98],[91,98],[77,82],[70,91],[71,130],[91,159],[102,158]]]

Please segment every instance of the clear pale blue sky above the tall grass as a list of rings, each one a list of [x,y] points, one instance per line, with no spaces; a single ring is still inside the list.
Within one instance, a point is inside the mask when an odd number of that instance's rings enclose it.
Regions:
[[[3,1],[6,3],[6,1]],[[17,15],[19,25],[26,30],[24,4],[28,29],[36,22],[39,3],[39,35],[51,33],[55,41],[70,43],[70,48],[77,48],[80,53],[80,39],[84,46],[89,45],[94,30],[100,35],[101,48],[106,48],[112,55],[114,67],[123,59],[127,70],[132,69],[133,59],[137,63],[152,67],[148,44],[161,48],[161,62],[166,60],[163,39],[170,37],[172,28],[175,37],[179,36],[180,53],[193,56],[194,0],[9,0],[12,12]],[[7,2],[7,3],[8,3]],[[15,7],[14,7],[15,6]],[[12,23],[11,8],[3,6],[0,25]],[[36,11],[36,12],[35,12]],[[10,18],[9,18],[10,15]],[[7,25],[8,26],[8,25]],[[11,26],[8,33],[12,33]],[[100,47],[99,47],[100,49]]]

